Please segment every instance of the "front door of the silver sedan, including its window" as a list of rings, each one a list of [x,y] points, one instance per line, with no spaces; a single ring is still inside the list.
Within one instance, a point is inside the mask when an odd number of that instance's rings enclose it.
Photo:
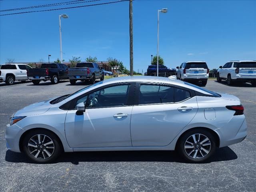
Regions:
[[[129,105],[131,84],[109,86],[80,96],[76,104],[84,102],[86,111],[77,115],[69,110],[65,133],[71,148],[128,147],[132,146]]]

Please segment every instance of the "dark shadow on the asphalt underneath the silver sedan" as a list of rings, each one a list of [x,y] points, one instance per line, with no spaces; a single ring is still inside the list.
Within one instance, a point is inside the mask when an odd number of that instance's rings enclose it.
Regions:
[[[216,150],[214,156],[204,163],[237,159],[236,153],[229,147]],[[23,153],[6,151],[5,160],[12,163],[34,163]],[[63,153],[54,163],[71,162],[179,162],[187,163],[175,151],[104,151]]]

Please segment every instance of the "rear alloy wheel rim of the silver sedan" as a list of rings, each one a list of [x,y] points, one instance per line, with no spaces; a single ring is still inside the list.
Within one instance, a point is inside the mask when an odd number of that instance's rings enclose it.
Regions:
[[[211,150],[210,139],[203,134],[193,134],[186,140],[184,150],[190,158],[204,158]]]

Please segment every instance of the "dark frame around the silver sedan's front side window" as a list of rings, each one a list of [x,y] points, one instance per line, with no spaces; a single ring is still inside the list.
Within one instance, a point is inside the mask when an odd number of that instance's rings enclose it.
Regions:
[[[135,83],[134,82],[122,82],[122,83],[113,83],[113,84],[108,84],[108,85],[105,85],[105,86],[101,86],[99,88],[96,88],[96,89],[93,89],[89,92],[86,92],[68,102],[66,102],[65,104],[63,104],[62,106],[60,106],[59,108],[62,109],[62,110],[76,110],[76,101],[80,98],[83,98],[85,96],[88,96],[90,95],[91,93],[93,92],[97,92],[98,90],[101,90],[101,89],[105,89],[105,88],[108,88],[108,87],[113,87],[113,86],[119,86],[119,85],[130,85],[130,90],[128,92],[128,100],[127,100],[127,103],[126,105],[122,105],[122,106],[104,106],[104,107],[90,107],[90,108],[86,108],[86,109],[100,109],[100,108],[113,108],[113,107],[127,107],[127,106],[133,106],[133,103],[134,103],[134,90],[135,90]],[[87,97],[88,99],[89,97]]]

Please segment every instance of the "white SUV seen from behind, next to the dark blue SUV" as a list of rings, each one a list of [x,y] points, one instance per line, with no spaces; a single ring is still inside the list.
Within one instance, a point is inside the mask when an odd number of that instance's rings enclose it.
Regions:
[[[176,67],[177,78],[182,81],[202,82],[202,85],[207,84],[209,77],[209,68],[204,61],[188,61]]]

